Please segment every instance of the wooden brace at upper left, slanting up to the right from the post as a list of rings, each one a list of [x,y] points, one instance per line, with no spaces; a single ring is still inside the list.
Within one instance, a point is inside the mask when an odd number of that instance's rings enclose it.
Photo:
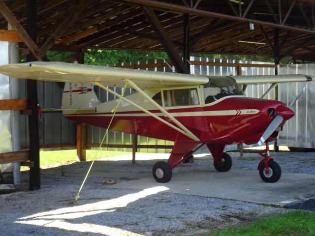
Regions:
[[[46,54],[55,42],[63,35],[68,27],[78,18],[83,10],[90,4],[91,0],[81,1],[73,10],[68,14],[66,19],[62,20],[58,29],[46,40],[46,42],[40,47],[42,55]]]

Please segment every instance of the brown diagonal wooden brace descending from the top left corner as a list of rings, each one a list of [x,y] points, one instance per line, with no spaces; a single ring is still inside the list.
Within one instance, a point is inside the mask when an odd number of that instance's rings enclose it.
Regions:
[[[41,60],[41,52],[37,47],[36,43],[30,35],[26,32],[26,30],[21,26],[3,0],[0,0],[0,13],[3,15],[5,20],[11,25],[11,27],[17,32],[20,38],[24,41],[26,46],[30,49],[32,54],[36,57],[37,60]]]

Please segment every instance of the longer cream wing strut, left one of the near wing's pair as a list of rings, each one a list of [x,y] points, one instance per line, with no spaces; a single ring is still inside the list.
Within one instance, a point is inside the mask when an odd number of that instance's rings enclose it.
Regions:
[[[164,124],[168,125],[169,127],[173,128],[173,129],[175,129],[175,130],[177,130],[178,132],[180,132],[180,133],[186,135],[186,136],[189,137],[190,139],[192,139],[192,140],[194,140],[194,141],[199,141],[199,139],[198,139],[194,134],[192,134],[189,130],[188,130],[189,132],[185,132],[183,129],[180,129],[180,128],[176,127],[175,125],[173,125],[173,124],[167,122],[166,120],[164,120],[164,119],[158,117],[157,115],[155,115],[155,114],[153,114],[152,112],[150,112],[150,111],[144,109],[143,107],[140,107],[140,106],[137,105],[136,103],[130,101],[129,99],[127,99],[126,97],[122,96],[121,94],[119,94],[119,93],[113,91],[112,89],[107,88],[106,86],[102,85],[101,83],[92,82],[92,81],[91,81],[91,83],[94,84],[94,85],[96,85],[96,86],[98,86],[98,87],[100,87],[100,88],[102,88],[102,89],[104,89],[104,90],[106,90],[106,91],[108,91],[108,92],[110,92],[110,93],[112,93],[112,94],[114,94],[115,96],[117,96],[117,97],[119,97],[119,98],[122,98],[124,101],[126,101],[126,102],[129,103],[130,105],[132,105],[132,106],[136,107],[137,109],[143,111],[144,113],[146,113],[146,114],[152,116],[153,118],[158,119],[158,120],[161,121],[162,123],[164,123]],[[137,88],[138,88],[138,87],[137,87]],[[140,89],[140,90],[141,90],[141,89]],[[142,90],[141,90],[141,91],[142,91]],[[151,99],[153,102],[155,102],[152,98],[150,98],[150,99]],[[150,101],[150,100],[149,100],[149,101]],[[158,106],[159,106],[159,105],[158,105]],[[163,108],[162,108],[162,109],[163,109]],[[165,111],[165,112],[166,112],[166,111]],[[166,112],[166,113],[167,113],[167,112]],[[183,125],[183,124],[181,124],[181,125]],[[184,127],[185,127],[185,126],[184,126]],[[185,128],[186,128],[186,127],[185,127]]]

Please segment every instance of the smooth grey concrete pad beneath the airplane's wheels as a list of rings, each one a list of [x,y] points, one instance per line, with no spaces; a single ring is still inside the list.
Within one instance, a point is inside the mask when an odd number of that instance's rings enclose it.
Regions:
[[[132,174],[131,174],[132,175]],[[258,171],[198,170],[174,173],[168,183],[158,183],[143,177],[112,185],[113,188],[147,189],[165,186],[165,192],[239,200],[258,204],[278,205],[301,201],[315,196],[315,175],[283,173],[276,183],[266,183]]]

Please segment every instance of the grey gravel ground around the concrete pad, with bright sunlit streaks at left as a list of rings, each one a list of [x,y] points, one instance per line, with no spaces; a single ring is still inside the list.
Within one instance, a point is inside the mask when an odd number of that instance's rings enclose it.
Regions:
[[[274,153],[272,153],[274,154]],[[279,152],[276,161],[283,172],[315,174],[314,152]],[[137,155],[119,161],[97,161],[93,172],[151,173],[157,157]],[[230,153],[233,169],[256,170],[257,153]],[[214,168],[211,155],[197,155],[191,167],[178,167],[174,172]],[[114,158],[117,159],[117,158]],[[125,159],[125,160],[124,160]],[[0,195],[1,235],[64,236],[189,236],[225,229],[233,224],[246,224],[253,219],[275,215],[287,209],[184,194],[163,193],[163,189],[143,191],[115,189],[103,185],[104,177],[89,177],[78,203],[73,201],[82,177],[67,176],[73,171],[86,172],[89,163],[52,168],[41,175],[41,189],[28,191],[29,176],[22,173],[22,183],[11,194]],[[49,172],[50,171],[50,172]],[[61,172],[66,176],[61,176]],[[258,174],[258,173],[257,173]],[[128,181],[121,178],[109,180]]]

